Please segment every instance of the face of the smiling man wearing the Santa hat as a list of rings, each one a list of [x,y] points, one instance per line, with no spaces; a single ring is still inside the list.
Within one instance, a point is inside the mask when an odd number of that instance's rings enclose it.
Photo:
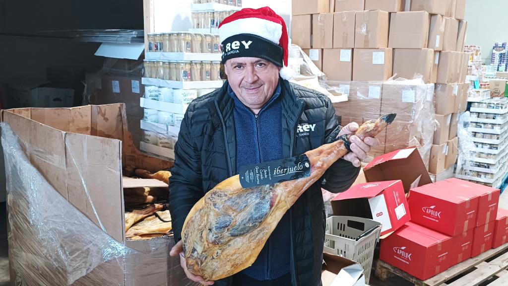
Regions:
[[[231,89],[252,111],[259,111],[277,87],[280,68],[259,58],[235,58],[224,65]]]

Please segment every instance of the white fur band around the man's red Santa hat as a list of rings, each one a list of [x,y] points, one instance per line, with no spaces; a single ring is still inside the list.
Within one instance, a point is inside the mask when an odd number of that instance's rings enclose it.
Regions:
[[[256,35],[278,45],[282,36],[282,25],[260,18],[245,18],[224,24],[219,28],[220,42],[239,34]]]

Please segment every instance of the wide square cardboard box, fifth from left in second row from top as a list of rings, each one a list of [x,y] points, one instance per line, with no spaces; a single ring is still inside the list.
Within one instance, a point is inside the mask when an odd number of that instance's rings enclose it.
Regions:
[[[429,14],[425,11],[391,14],[388,47],[426,48],[429,40]]]

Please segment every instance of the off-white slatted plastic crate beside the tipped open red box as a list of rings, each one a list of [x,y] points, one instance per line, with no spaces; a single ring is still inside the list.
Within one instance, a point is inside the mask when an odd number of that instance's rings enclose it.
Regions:
[[[381,234],[381,223],[352,216],[331,216],[326,219],[324,251],[358,262],[369,283],[374,248]]]

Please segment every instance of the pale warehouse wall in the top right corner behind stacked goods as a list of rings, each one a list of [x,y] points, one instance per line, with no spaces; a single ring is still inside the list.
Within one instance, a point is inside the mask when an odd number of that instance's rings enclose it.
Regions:
[[[482,47],[484,61],[489,64],[495,42],[507,42],[506,0],[466,0],[467,45]]]

